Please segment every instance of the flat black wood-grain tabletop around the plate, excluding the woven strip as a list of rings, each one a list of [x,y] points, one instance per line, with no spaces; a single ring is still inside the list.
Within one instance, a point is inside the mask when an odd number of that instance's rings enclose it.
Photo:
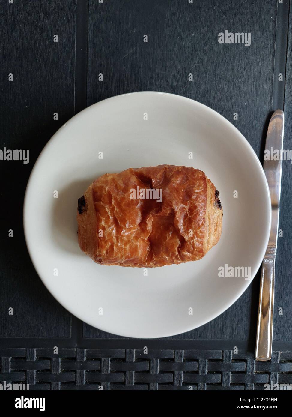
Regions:
[[[98,344],[105,349],[142,349],[145,341],[124,340],[82,325],[38,278],[22,230],[23,198],[33,163],[52,134],[82,108],[113,95],[147,90],[184,95],[210,106],[242,132],[261,160],[268,119],[275,108],[283,108],[285,92],[284,148],[292,148],[289,1],[1,0],[0,5],[0,148],[30,149],[29,164],[0,161],[0,346],[49,349],[57,343],[64,348]],[[218,33],[225,30],[250,32],[251,46],[219,44]],[[9,73],[13,81],[8,81]],[[283,81],[278,81],[279,73]],[[233,119],[235,112],[238,120]],[[283,237],[276,270],[278,350],[292,350],[291,191],[288,161],[283,163]],[[13,238],[8,229],[13,229]],[[147,346],[238,346],[253,352],[258,292],[257,276],[217,319],[173,340],[147,341]],[[279,307],[283,315],[277,314]]]

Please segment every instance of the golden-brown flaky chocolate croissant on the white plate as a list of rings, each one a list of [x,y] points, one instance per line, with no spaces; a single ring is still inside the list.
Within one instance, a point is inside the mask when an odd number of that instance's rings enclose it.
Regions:
[[[101,265],[196,261],[220,239],[218,195],[204,172],[186,166],[102,175],[78,200],[79,246]]]

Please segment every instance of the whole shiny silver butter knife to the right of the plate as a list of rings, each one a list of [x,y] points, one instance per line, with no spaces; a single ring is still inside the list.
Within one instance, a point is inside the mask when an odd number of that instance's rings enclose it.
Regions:
[[[279,203],[282,176],[282,151],[284,136],[284,113],[276,110],[271,117],[265,149],[270,154],[269,160],[264,160],[264,171],[270,189],[272,204],[272,222],[269,243],[262,262],[260,280],[260,301],[257,317],[257,343],[255,357],[259,361],[268,361],[272,355],[273,343],[273,304],[275,284],[275,260],[279,227]],[[275,159],[274,153],[279,152],[280,159]]]

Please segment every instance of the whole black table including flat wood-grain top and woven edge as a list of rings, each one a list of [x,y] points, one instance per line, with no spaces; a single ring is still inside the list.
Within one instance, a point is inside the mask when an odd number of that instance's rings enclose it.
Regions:
[[[30,150],[27,164],[0,161],[0,382],[26,381],[30,389],[263,389],[270,380],[292,383],[290,161],[283,162],[270,362],[254,356],[259,275],[212,322],[151,340],[123,339],[80,322],[37,276],[23,234],[25,188],[47,141],[83,108],[133,91],[184,95],[233,123],[261,161],[267,123],[282,108],[284,148],[292,148],[289,0],[100,1],[0,3],[0,149]],[[225,30],[250,33],[250,46],[220,44]]]

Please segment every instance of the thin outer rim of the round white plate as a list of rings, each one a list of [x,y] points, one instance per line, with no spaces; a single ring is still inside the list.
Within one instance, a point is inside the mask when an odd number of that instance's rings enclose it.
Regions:
[[[32,176],[33,176],[33,174],[34,174],[34,171],[35,171],[35,168],[36,168],[36,166],[37,166],[37,163],[40,161],[40,158],[41,158],[41,156],[43,155],[43,153],[45,153],[45,149],[47,148],[47,146],[49,145],[49,143],[52,143],[52,141],[54,140],[56,140],[57,139],[57,136],[59,135],[59,133],[60,133],[60,131],[62,130],[62,128],[64,128],[65,126],[67,126],[67,124],[68,123],[72,123],[72,120],[73,119],[75,119],[75,118],[78,118],[78,117],[80,117],[80,115],[83,113],[83,112],[86,112],[89,108],[91,108],[91,107],[98,107],[98,106],[100,106],[100,105],[102,105],[105,101],[108,101],[108,100],[111,100],[111,101],[117,101],[118,99],[120,99],[120,98],[122,98],[122,97],[125,97],[125,96],[128,96],[128,95],[141,95],[141,94],[147,94],[147,95],[151,95],[151,94],[154,94],[154,95],[168,95],[168,96],[172,96],[172,98],[176,98],[176,99],[180,99],[180,100],[184,100],[184,101],[188,101],[190,104],[195,104],[195,105],[197,105],[197,106],[201,106],[202,108],[203,108],[203,110],[205,110],[205,111],[208,111],[209,113],[212,113],[214,116],[216,116],[218,119],[221,119],[222,120],[222,122],[224,122],[225,124],[227,124],[227,126],[229,126],[234,132],[236,132],[236,135],[237,135],[237,137],[238,138],[240,138],[240,141],[245,145],[245,146],[247,146],[247,148],[251,151],[251,153],[253,154],[253,156],[254,156],[254,158],[255,158],[255,161],[257,162],[257,165],[259,166],[259,168],[260,168],[260,171],[261,171],[261,175],[262,175],[262,179],[263,179],[263,182],[265,183],[265,191],[266,191],[266,196],[267,196],[267,198],[268,198],[268,201],[269,201],[269,206],[268,206],[268,222],[269,222],[269,225],[268,225],[268,227],[267,227],[267,230],[266,230],[266,234],[265,234],[265,245],[263,245],[263,248],[264,249],[262,249],[262,251],[261,251],[261,256],[259,256],[259,259],[260,259],[260,261],[258,261],[258,264],[257,264],[257,267],[255,268],[255,274],[252,276],[252,278],[249,280],[249,281],[245,281],[245,285],[243,285],[242,286],[242,289],[241,289],[241,291],[239,291],[239,294],[237,294],[236,295],[236,298],[235,299],[233,299],[233,301],[231,302],[231,303],[227,303],[227,304],[225,304],[225,307],[223,307],[223,309],[220,309],[220,310],[217,310],[217,312],[216,312],[216,314],[215,314],[215,316],[214,316],[214,314],[211,314],[211,316],[205,316],[205,318],[206,319],[204,319],[199,325],[196,325],[196,327],[193,327],[193,325],[192,326],[188,326],[188,327],[186,327],[186,328],[183,328],[181,331],[180,331],[180,333],[175,333],[175,334],[173,334],[173,333],[164,333],[164,334],[162,334],[162,335],[159,335],[159,336],[154,336],[154,337],[149,337],[149,336],[145,336],[145,337],[143,337],[143,336],[141,336],[141,334],[136,334],[136,335],[131,335],[131,333],[132,333],[132,330],[130,330],[129,331],[129,333],[128,334],[125,334],[124,332],[116,332],[115,331],[115,335],[117,335],[117,336],[121,336],[121,337],[124,337],[124,338],[137,338],[137,339],[160,339],[160,338],[164,338],[164,337],[172,337],[172,336],[176,336],[176,335],[178,335],[178,334],[183,334],[183,333],[186,333],[186,332],[190,332],[190,331],[192,331],[192,330],[194,330],[194,329],[197,329],[197,328],[199,328],[199,327],[201,327],[201,326],[204,326],[205,324],[207,324],[207,323],[209,323],[210,321],[212,321],[212,320],[214,320],[215,318],[217,318],[217,317],[219,317],[222,313],[224,313],[224,311],[226,311],[227,309],[229,309],[241,296],[242,296],[242,294],[247,290],[247,288],[250,286],[250,284],[251,284],[251,282],[253,281],[253,279],[255,278],[255,276],[256,276],[256,274],[257,274],[257,272],[258,272],[258,270],[260,269],[260,266],[261,266],[261,264],[262,264],[262,261],[263,261],[263,258],[264,258],[264,256],[265,256],[265,251],[266,251],[266,248],[267,248],[267,244],[268,244],[268,240],[269,240],[269,236],[270,236],[270,229],[271,229],[271,219],[272,219],[272,207],[271,207],[271,198],[270,198],[270,190],[269,190],[269,186],[268,186],[268,183],[267,183],[267,178],[266,178],[266,176],[265,176],[265,172],[264,172],[264,169],[263,169],[263,167],[262,167],[262,164],[261,164],[261,162],[260,162],[260,160],[259,160],[259,158],[257,157],[257,154],[255,153],[255,151],[254,151],[254,149],[252,148],[252,146],[250,145],[250,143],[247,141],[247,139],[242,135],[242,133],[229,121],[229,120],[227,120],[224,116],[222,116],[220,113],[218,113],[217,111],[215,111],[215,110],[213,110],[212,108],[210,108],[210,107],[208,107],[208,106],[206,106],[205,104],[203,104],[203,103],[200,103],[199,101],[197,101],[197,100],[193,100],[192,98],[188,98],[188,97],[185,97],[185,96],[182,96],[182,95],[178,95],[178,94],[173,94],[173,93],[165,93],[165,92],[162,92],[162,91],[136,91],[136,92],[132,92],[132,93],[124,93],[124,94],[119,94],[119,95],[114,95],[114,96],[112,96],[112,97],[109,97],[109,98],[105,98],[104,100],[100,100],[100,101],[98,101],[98,102],[96,102],[96,103],[93,103],[93,104],[91,104],[90,106],[87,106],[85,109],[83,109],[82,111],[80,111],[79,113],[76,113],[74,116],[72,116],[67,122],[65,122],[54,134],[53,134],[53,136],[47,141],[47,143],[45,144],[45,146],[42,148],[42,151],[40,152],[40,154],[39,154],[39,156],[37,157],[37,159],[36,159],[36,161],[35,161],[35,163],[34,163],[34,166],[32,167],[32,171],[31,171],[31,173],[30,173],[30,176],[29,176],[29,178],[28,178],[28,181],[27,181],[27,186],[26,186],[26,189],[25,189],[25,196],[24,196],[24,202],[23,202],[23,211],[22,211],[22,221],[23,221],[23,230],[24,230],[24,235],[25,235],[25,243],[26,243],[26,246],[27,246],[27,251],[28,251],[28,253],[29,253],[29,255],[30,255],[30,259],[31,259],[31,261],[32,261],[32,264],[33,264],[33,266],[34,266],[34,268],[35,268],[35,271],[37,272],[37,275],[39,276],[39,278],[41,279],[41,281],[42,281],[42,283],[45,285],[45,287],[46,287],[46,289],[50,292],[50,294],[52,294],[52,296],[62,305],[62,307],[63,308],[65,308],[70,314],[73,314],[75,317],[77,317],[77,318],[79,318],[80,320],[82,320],[83,322],[85,322],[85,323],[87,323],[87,324],[89,324],[90,326],[92,326],[92,327],[95,327],[96,329],[99,329],[99,330],[102,330],[103,332],[107,332],[107,333],[112,333],[112,330],[109,330],[109,329],[106,329],[105,327],[103,327],[102,325],[100,326],[98,326],[98,327],[96,327],[96,325],[95,324],[93,324],[93,323],[91,323],[90,322],[90,320],[88,320],[88,318],[84,318],[84,317],[82,317],[83,316],[83,314],[79,314],[79,312],[77,313],[77,314],[75,314],[75,312],[72,312],[71,311],[71,308],[70,309],[68,309],[67,307],[66,307],[66,302],[64,302],[64,300],[61,300],[60,299],[60,297],[59,297],[59,295],[55,295],[55,293],[54,293],[54,291],[53,290],[51,290],[50,288],[49,288],[49,286],[47,285],[47,283],[45,282],[45,279],[42,279],[42,276],[41,276],[41,273],[40,273],[40,271],[39,271],[39,269],[37,268],[37,266],[36,266],[36,263],[35,263],[35,261],[34,261],[34,259],[33,259],[33,256],[32,256],[32,251],[31,251],[31,248],[30,248],[30,245],[29,245],[29,239],[27,238],[27,230],[26,230],[26,228],[27,228],[27,224],[26,224],[26,221],[25,221],[25,212],[26,212],[26,206],[27,206],[27,194],[28,194],[28,189],[29,189],[29,187],[30,187],[30,183],[31,183],[31,180],[32,180]],[[218,312],[219,311],[219,312]],[[139,329],[136,329],[136,331],[139,333]],[[125,330],[125,332],[127,332],[126,330]]]

